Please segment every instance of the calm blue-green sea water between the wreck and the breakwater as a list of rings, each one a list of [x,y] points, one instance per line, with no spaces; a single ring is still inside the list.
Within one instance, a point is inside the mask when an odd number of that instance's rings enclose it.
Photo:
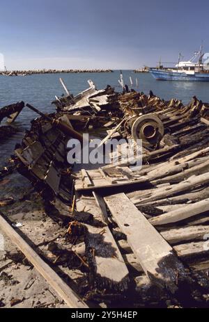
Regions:
[[[154,94],[161,98],[175,97],[182,99],[184,104],[187,104],[194,95],[202,99],[203,102],[209,102],[209,83],[207,82],[155,81],[150,74],[134,74],[131,70],[124,70],[123,77],[128,86],[130,86],[130,76],[134,84],[136,78],[138,79],[137,90],[145,93],[153,90]],[[119,71],[89,74],[38,74],[27,77],[0,76],[0,107],[22,100],[36,106],[42,112],[55,111],[51,102],[55,95],[61,96],[63,94],[59,77],[63,78],[68,89],[74,95],[88,88],[88,79],[92,79],[98,89],[109,84],[114,86],[116,90],[121,90],[118,84]],[[24,108],[18,116],[14,125],[20,130],[19,133],[0,143],[0,166],[3,166],[10,154],[13,154],[15,143],[21,142],[25,129],[30,127],[30,120],[36,116],[36,113],[33,113],[29,108]]]

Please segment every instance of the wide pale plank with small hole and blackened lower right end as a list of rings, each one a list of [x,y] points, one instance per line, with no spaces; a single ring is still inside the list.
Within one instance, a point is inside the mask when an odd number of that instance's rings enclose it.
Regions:
[[[104,201],[150,280],[161,287],[169,287],[171,291],[176,290],[176,278],[184,268],[167,241],[125,193],[105,197]]]

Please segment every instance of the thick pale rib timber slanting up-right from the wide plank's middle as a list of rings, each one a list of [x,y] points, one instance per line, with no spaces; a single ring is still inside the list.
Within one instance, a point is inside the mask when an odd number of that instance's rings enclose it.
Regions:
[[[209,211],[209,198],[195,202],[194,204],[187,204],[184,207],[162,214],[155,218],[151,218],[149,222],[153,226],[166,225],[169,223],[177,223],[178,221],[202,214]]]

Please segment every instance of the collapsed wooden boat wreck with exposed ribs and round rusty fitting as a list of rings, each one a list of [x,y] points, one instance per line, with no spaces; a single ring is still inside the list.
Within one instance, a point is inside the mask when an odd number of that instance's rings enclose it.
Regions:
[[[65,226],[66,249],[53,243],[49,251],[76,253],[82,305],[207,306],[209,104],[107,90],[91,86],[77,98],[57,98],[59,113],[49,117],[71,129],[73,120],[74,127],[81,122],[80,131],[103,117],[112,127],[103,144],[114,135],[142,139],[142,168],[132,168],[118,148],[109,165],[75,172],[65,149],[73,134],[43,116],[15,149],[17,170],[45,199],[46,213]],[[97,95],[114,97],[114,115],[103,98],[95,108]]]

